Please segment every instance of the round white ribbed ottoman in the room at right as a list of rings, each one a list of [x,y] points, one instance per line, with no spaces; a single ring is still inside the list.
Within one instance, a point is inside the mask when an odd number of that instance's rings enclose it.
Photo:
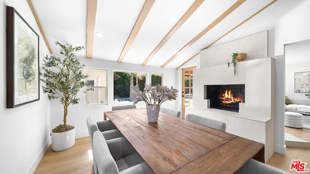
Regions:
[[[291,128],[303,128],[303,115],[295,112],[285,112],[285,126]]]

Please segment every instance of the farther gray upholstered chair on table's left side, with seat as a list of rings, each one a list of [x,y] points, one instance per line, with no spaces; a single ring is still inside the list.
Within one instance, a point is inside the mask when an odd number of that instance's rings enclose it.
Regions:
[[[111,122],[111,120],[98,121],[96,122],[93,116],[87,116],[86,124],[88,128],[89,138],[91,140],[91,145],[93,149],[93,132],[100,131],[106,140],[113,138],[122,137],[123,134],[116,128],[116,126]],[[93,153],[93,170],[95,174],[98,174],[96,159]]]

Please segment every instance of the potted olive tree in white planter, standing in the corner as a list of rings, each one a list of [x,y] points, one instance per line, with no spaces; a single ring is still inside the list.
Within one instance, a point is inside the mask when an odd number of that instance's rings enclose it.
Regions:
[[[40,69],[40,80],[46,84],[43,91],[48,93],[48,99],[60,99],[63,104],[63,124],[54,128],[51,133],[52,149],[62,151],[75,144],[75,127],[67,124],[68,106],[78,104],[78,91],[86,86],[83,79],[88,75],[83,74],[85,65],[81,65],[75,55],[75,52],[85,49],[84,46],[73,47],[59,42],[56,45],[60,46],[63,58],[46,56]]]

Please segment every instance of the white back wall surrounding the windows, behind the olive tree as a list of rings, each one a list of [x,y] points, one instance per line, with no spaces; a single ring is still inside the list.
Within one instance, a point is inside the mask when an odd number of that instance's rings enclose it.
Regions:
[[[56,54],[56,53],[55,53]],[[67,123],[74,125],[76,127],[76,138],[88,136],[88,130],[86,126],[86,117],[93,115],[97,121],[103,120],[103,113],[105,111],[110,111],[113,106],[113,70],[122,70],[122,71],[137,71],[137,72],[146,72],[148,73],[148,82],[150,83],[151,73],[162,73],[164,74],[164,84],[167,87],[173,86],[179,90],[177,85],[177,70],[168,69],[168,68],[159,68],[151,66],[141,66],[128,63],[118,63],[112,61],[105,61],[99,59],[88,59],[80,58],[81,63],[85,64],[86,67],[91,68],[104,68],[108,69],[108,105],[103,106],[84,106],[84,93],[79,93],[78,97],[80,98],[79,104],[70,105],[68,108],[68,117]],[[161,106],[169,107],[171,109],[180,110],[178,107],[180,105],[181,90],[179,90],[177,100],[166,101]],[[51,112],[50,112],[50,125],[51,129],[63,124],[63,110],[62,104],[59,100],[51,100]],[[132,103],[130,103],[132,104]],[[137,107],[145,107],[144,102],[138,103]]]

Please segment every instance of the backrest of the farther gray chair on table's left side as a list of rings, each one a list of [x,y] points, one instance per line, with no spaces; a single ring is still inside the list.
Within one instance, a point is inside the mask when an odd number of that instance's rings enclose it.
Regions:
[[[97,123],[96,123],[96,121],[92,115],[87,116],[86,124],[87,124],[89,138],[91,139],[91,145],[92,145],[92,149],[93,149],[93,133],[95,131],[99,131],[98,126],[97,126]],[[97,163],[96,163],[96,158],[95,158],[94,152],[93,152],[93,171],[95,174],[98,174],[98,168],[97,168]]]

